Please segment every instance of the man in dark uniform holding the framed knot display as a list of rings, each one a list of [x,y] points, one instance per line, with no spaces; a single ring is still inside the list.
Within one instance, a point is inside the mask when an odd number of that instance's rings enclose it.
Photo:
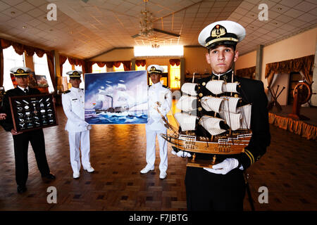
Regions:
[[[40,94],[40,92],[38,89],[32,89],[28,86],[29,72],[31,72],[30,68],[18,67],[12,68],[10,71],[13,72],[18,86],[15,89],[6,91],[4,94],[2,110],[6,113],[6,119],[1,122],[1,126],[4,127],[6,131],[10,131],[13,136],[15,181],[18,184],[18,193],[23,193],[27,191],[25,185],[28,176],[27,148],[29,142],[34,150],[37,167],[39,168],[42,177],[46,179],[55,179],[55,176],[54,174],[51,174],[46,160],[43,130],[35,129],[32,131],[20,132],[13,129],[9,97],[35,95]]]

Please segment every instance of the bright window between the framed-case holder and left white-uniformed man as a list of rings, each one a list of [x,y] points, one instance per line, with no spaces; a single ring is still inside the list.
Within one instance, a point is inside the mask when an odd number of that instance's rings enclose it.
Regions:
[[[42,58],[39,58],[35,53],[33,55],[34,72],[35,75],[45,75],[47,84],[49,84],[49,93],[54,92],[54,86],[51,82],[51,75],[49,75],[49,65],[47,65],[47,56],[44,54]]]

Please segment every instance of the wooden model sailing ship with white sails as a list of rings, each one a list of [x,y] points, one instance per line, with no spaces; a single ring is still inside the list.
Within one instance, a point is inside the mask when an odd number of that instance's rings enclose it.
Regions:
[[[204,96],[199,99],[197,91],[195,91],[197,84],[183,84],[181,89],[183,95],[176,104],[176,107],[182,111],[175,113],[175,120],[180,124],[181,131],[167,122],[167,126],[172,129],[173,134],[161,134],[161,136],[172,143],[173,147],[191,152],[192,155],[194,153],[217,155],[244,152],[252,135],[250,130],[251,104],[237,106],[241,100],[237,97],[238,85],[237,82],[226,83],[223,80],[211,80],[206,83],[206,89],[215,96]],[[218,97],[217,95],[220,94],[230,96]],[[200,101],[204,110],[210,112],[209,115],[197,117],[196,111],[202,110],[197,109],[197,101]],[[217,114],[220,117],[216,117]],[[210,135],[197,136],[194,132],[197,122]],[[223,124],[228,126],[223,126]],[[229,129],[222,127],[229,127]]]

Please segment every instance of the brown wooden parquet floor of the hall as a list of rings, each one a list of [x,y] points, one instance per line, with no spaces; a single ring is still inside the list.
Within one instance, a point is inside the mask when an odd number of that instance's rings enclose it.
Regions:
[[[57,127],[44,129],[46,156],[54,181],[42,180],[29,147],[27,192],[18,194],[15,184],[13,140],[1,129],[0,210],[186,210],[186,160],[170,154],[168,176],[159,179],[159,149],[156,168],[139,174],[145,162],[145,125],[94,125],[91,162],[96,170],[83,170],[73,179],[69,162],[66,116],[58,106]],[[308,141],[271,126],[272,141],[263,158],[248,169],[256,210],[317,210],[316,141]],[[57,203],[47,203],[47,188],[56,187]],[[268,203],[260,204],[259,187],[268,188]],[[248,198],[244,210],[251,210]]]

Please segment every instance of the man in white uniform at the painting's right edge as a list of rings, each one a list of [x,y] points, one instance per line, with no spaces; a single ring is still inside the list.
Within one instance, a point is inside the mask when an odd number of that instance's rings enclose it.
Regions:
[[[160,179],[165,179],[167,175],[166,170],[168,168],[168,151],[167,142],[161,137],[160,134],[166,134],[167,129],[164,126],[162,117],[156,108],[158,108],[161,114],[166,117],[172,105],[172,93],[170,89],[168,89],[166,86],[163,86],[160,82],[163,73],[163,68],[161,66],[149,65],[147,71],[149,72],[153,84],[149,87],[149,120],[145,126],[147,131],[147,166],[144,167],[140,173],[146,174],[147,172],[154,170],[154,162],[156,158],[155,141],[157,136],[161,158],[159,165]]]

